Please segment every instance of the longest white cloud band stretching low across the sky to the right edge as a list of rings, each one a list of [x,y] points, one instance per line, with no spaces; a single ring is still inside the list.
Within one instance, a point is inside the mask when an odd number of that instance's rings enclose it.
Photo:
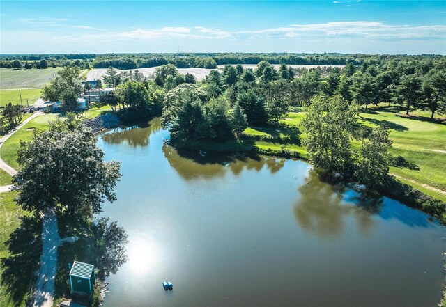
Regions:
[[[78,29],[95,29],[91,26],[71,26]],[[254,29],[249,31],[225,31],[222,29],[207,28],[204,26],[194,26],[187,28],[183,26],[166,26],[159,29],[133,29],[130,31],[118,32],[86,32],[66,33],[55,36],[58,42],[113,42],[113,41],[135,41],[135,40],[163,40],[169,38],[178,39],[212,39],[243,41],[256,38],[298,38],[300,40],[320,40],[346,38],[352,39],[373,39],[373,40],[426,40],[426,39],[446,39],[445,25],[392,25],[386,22],[326,22],[322,24],[290,24],[271,29]]]

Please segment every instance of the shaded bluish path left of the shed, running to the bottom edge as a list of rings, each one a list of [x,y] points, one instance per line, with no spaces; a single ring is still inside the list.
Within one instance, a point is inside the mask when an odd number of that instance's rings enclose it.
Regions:
[[[33,307],[52,307],[57,272],[57,249],[61,238],[57,231],[57,217],[54,210],[47,210],[42,215],[43,248],[42,255],[40,255],[40,269]]]

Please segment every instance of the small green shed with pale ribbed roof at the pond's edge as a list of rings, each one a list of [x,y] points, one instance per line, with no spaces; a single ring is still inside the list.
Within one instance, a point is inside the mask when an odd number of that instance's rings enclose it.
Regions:
[[[70,270],[71,292],[90,294],[95,284],[95,266],[75,261]]]

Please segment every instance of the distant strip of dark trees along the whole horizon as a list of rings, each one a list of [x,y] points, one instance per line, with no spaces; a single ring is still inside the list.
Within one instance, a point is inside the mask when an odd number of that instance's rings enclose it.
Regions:
[[[422,54],[249,54],[249,53],[178,53],[178,54],[33,54],[0,55],[0,68],[7,68],[14,60],[37,63],[45,58],[52,67],[77,66],[83,69],[108,68],[119,69],[148,68],[173,64],[177,68],[216,68],[226,64],[257,64],[268,61],[271,64],[286,65],[362,65],[371,63],[380,65],[387,61],[436,61],[444,56]]]

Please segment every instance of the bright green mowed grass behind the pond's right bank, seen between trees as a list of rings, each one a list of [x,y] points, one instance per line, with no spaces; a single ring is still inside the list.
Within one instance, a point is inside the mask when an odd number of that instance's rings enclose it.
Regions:
[[[446,120],[429,120],[426,111],[414,111],[411,117],[404,116],[404,111],[397,107],[380,107],[361,113],[358,120],[364,125],[376,127],[386,123],[390,128],[392,148],[390,155],[394,157],[390,173],[402,182],[419,189],[429,196],[446,202]],[[300,128],[300,121],[305,113],[292,109],[282,123]],[[283,135],[280,130],[259,129],[250,127],[245,130],[248,136]],[[298,152],[307,157],[302,145],[256,141],[257,147],[267,150],[286,149]]]

